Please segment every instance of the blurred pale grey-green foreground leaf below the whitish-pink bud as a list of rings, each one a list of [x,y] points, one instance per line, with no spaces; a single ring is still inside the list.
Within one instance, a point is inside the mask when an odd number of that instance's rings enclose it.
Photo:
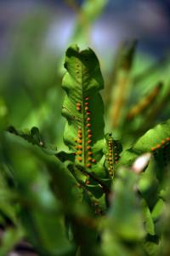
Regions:
[[[127,169],[119,171],[119,178],[115,179],[113,185],[114,195],[108,213],[108,229],[127,241],[140,241],[145,235],[142,207],[134,191],[136,182],[137,176],[133,172]]]

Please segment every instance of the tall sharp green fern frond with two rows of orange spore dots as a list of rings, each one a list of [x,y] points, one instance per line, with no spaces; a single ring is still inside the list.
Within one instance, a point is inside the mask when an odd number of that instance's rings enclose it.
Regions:
[[[104,138],[104,106],[99,90],[104,81],[99,61],[92,49],[80,51],[72,45],[66,51],[65,68],[64,141],[77,155],[76,163],[91,168],[103,154],[100,141]]]

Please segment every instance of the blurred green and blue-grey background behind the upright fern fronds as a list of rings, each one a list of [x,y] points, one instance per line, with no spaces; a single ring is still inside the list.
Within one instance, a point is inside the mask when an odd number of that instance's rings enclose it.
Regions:
[[[60,116],[63,57],[72,43],[94,49],[107,86],[121,42],[139,40],[131,73],[139,88],[131,90],[129,104],[158,80],[167,80],[168,8],[167,1],[144,0],[1,1],[1,114],[8,115],[8,125],[36,125],[49,143],[59,146],[65,123]],[[160,66],[142,76],[158,60]]]

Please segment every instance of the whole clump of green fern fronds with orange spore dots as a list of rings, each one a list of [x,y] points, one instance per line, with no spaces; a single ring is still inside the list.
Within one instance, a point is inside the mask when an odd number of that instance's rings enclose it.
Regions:
[[[0,255],[23,239],[44,256],[169,255],[170,119],[153,125],[169,89],[157,79],[143,95],[135,47],[121,46],[105,91],[94,51],[66,50],[56,145],[57,117],[18,130],[1,100]]]

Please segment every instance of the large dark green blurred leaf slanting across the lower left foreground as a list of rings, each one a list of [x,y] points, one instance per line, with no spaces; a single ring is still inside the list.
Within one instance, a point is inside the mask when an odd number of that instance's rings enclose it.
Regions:
[[[49,187],[51,177],[46,167],[45,154],[38,151],[38,148],[28,149],[17,141],[9,140],[10,137],[8,137],[10,147],[17,148],[10,155],[10,159],[17,183],[14,188],[16,199],[20,203],[18,217],[26,231],[27,239],[31,241],[40,255],[70,255],[74,250],[74,245],[65,234],[65,219],[61,213],[60,199],[54,197]],[[26,159],[29,160],[26,161]],[[55,160],[54,157],[54,163]],[[49,159],[48,162],[51,160]],[[57,166],[55,166],[55,171],[57,171]],[[67,179],[65,183],[68,184]],[[65,192],[65,187],[61,183],[60,189],[62,189],[60,195],[64,195],[62,191]],[[71,190],[69,190],[69,195],[71,195]],[[72,197],[71,202],[73,203]]]

